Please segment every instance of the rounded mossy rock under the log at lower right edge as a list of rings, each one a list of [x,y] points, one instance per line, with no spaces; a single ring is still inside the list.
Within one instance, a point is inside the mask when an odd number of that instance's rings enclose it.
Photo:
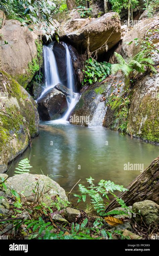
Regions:
[[[134,221],[141,226],[149,227],[156,222],[159,216],[159,205],[153,201],[145,200],[133,204],[132,211],[136,213]]]

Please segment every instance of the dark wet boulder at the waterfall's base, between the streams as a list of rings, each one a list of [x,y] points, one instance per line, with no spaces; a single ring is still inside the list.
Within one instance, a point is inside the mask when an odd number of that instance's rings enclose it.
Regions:
[[[55,88],[38,101],[38,112],[42,121],[59,119],[66,109],[66,96]]]

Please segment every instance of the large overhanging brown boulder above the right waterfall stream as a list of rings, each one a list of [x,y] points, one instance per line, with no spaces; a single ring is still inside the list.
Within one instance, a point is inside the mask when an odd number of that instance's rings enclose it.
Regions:
[[[121,25],[116,12],[84,20],[72,20],[68,32],[66,31],[67,38],[80,51],[87,50],[89,46],[90,52],[98,49],[98,55],[101,55],[120,41]]]

